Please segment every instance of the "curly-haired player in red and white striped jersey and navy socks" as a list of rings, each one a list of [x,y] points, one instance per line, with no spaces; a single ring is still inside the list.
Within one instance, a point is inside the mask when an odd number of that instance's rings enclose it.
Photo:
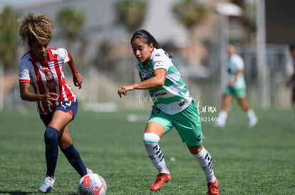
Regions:
[[[75,118],[78,111],[78,100],[66,83],[63,64],[68,62],[73,83],[79,89],[82,87],[83,77],[66,49],[49,48],[53,23],[48,16],[29,13],[21,20],[19,35],[29,46],[29,51],[21,57],[19,68],[21,99],[36,101],[40,118],[46,126],[44,142],[47,172],[39,191],[48,193],[56,179],[58,147],[81,177],[91,172],[81,160],[68,132],[68,123]],[[30,85],[34,92],[31,92]]]

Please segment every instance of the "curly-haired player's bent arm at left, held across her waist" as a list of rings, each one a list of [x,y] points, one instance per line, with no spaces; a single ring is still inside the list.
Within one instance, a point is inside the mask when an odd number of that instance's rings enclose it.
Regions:
[[[56,93],[46,94],[33,94],[29,91],[30,84],[26,82],[19,83],[19,89],[21,90],[21,99],[24,101],[46,101],[48,104],[52,104],[52,101],[57,101]]]

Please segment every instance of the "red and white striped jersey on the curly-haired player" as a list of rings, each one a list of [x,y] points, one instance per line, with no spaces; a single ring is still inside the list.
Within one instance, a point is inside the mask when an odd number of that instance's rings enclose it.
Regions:
[[[66,83],[63,74],[63,64],[70,60],[65,48],[49,49],[46,62],[39,62],[31,50],[21,57],[19,82],[30,83],[35,94],[58,94],[58,101],[53,105],[37,101],[40,114],[52,113],[61,101],[76,101],[76,94]]]

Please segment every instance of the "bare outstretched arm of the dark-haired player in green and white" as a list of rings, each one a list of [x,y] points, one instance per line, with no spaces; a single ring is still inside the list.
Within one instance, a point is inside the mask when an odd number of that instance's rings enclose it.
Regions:
[[[118,89],[118,94],[120,97],[127,94],[127,91],[133,91],[134,89],[154,89],[157,87],[161,87],[165,84],[167,71],[164,68],[155,69],[154,77],[150,79],[146,79],[145,81],[138,82],[135,84],[130,84],[127,86],[120,87]]]

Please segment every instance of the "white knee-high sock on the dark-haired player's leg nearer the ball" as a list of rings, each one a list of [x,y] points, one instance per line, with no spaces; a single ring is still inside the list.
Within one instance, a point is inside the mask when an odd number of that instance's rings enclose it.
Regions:
[[[156,167],[159,173],[169,173],[166,167],[164,155],[159,146],[160,137],[155,133],[144,133],[143,134],[143,145],[145,150],[148,152],[148,157],[152,160],[152,163]]]

